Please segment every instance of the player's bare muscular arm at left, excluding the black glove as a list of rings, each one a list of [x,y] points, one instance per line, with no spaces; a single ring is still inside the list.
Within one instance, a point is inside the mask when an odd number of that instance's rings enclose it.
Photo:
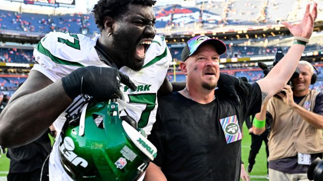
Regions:
[[[30,71],[0,114],[0,145],[16,147],[38,138],[71,103],[62,81]]]

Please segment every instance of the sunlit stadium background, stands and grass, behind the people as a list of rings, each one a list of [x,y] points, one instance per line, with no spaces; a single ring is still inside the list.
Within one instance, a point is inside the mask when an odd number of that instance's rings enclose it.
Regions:
[[[10,99],[26,81],[36,63],[34,49],[49,32],[82,34],[89,38],[100,34],[92,13],[96,2],[0,0],[0,100]],[[165,38],[172,57],[168,80],[186,81],[179,66],[183,48],[189,39],[206,35],[222,40],[227,46],[227,52],[219,60],[220,71],[246,77],[249,83],[254,83],[264,77],[258,62],[271,67],[277,50],[286,55],[293,43],[293,35],[282,22],[299,23],[306,4],[314,2],[318,2],[318,17],[301,60],[317,68],[317,81],[310,89],[322,93],[323,0],[157,0],[153,7],[157,35]],[[242,161],[246,169],[251,137],[245,124],[242,133]],[[53,142],[54,138],[49,137]],[[262,143],[253,170],[248,173],[251,181],[267,181],[264,147]],[[0,181],[7,181],[10,160],[3,153],[0,153]]]

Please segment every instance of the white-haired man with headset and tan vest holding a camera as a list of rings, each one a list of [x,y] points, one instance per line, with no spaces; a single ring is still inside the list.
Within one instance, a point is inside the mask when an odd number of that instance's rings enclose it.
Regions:
[[[292,79],[292,86],[286,85],[278,98],[263,104],[253,121],[254,134],[265,131],[265,119],[271,122],[268,160],[272,181],[308,181],[309,165],[322,158],[323,94],[310,90],[317,69],[303,60],[298,68],[300,74]]]

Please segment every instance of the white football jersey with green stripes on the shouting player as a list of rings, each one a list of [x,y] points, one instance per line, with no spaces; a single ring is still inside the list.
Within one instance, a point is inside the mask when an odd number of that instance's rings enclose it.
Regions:
[[[47,34],[34,50],[37,63],[32,70],[40,71],[56,82],[80,67],[89,65],[109,67],[99,59],[94,48],[99,36],[90,39],[81,34],[63,32]],[[170,61],[171,56],[164,38],[156,35],[146,52],[146,59],[140,71],[133,71],[127,66],[120,68],[120,71],[128,75],[137,86],[137,90],[132,91],[127,86],[121,85],[126,102],[141,109],[141,112],[126,111],[138,122],[139,127],[144,128],[147,135],[150,134],[153,123],[156,121],[157,91],[166,77]],[[125,113],[120,115],[123,114]],[[54,122],[57,140],[66,121],[65,115],[63,112]],[[50,180],[72,181],[60,162],[58,146],[58,141],[56,141],[49,160]]]

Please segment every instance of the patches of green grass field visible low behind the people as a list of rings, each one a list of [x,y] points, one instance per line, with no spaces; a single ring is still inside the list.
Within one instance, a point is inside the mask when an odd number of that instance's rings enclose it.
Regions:
[[[243,139],[242,139],[242,161],[244,162],[245,169],[248,166],[248,155],[250,151],[251,136],[248,134],[248,130],[245,125],[243,125]],[[265,145],[262,147],[256,157],[256,163],[253,166],[252,172],[249,174],[251,181],[267,181],[264,177],[267,174],[266,168],[266,151],[264,149]],[[9,170],[9,160],[2,155],[0,157],[0,177],[5,177],[4,172]]]

